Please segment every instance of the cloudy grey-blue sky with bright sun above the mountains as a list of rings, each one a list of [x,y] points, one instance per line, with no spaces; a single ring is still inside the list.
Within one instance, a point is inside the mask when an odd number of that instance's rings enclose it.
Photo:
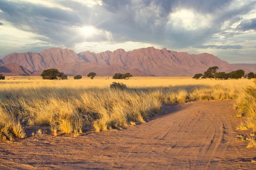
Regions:
[[[256,0],[0,0],[0,58],[152,46],[256,63]]]

